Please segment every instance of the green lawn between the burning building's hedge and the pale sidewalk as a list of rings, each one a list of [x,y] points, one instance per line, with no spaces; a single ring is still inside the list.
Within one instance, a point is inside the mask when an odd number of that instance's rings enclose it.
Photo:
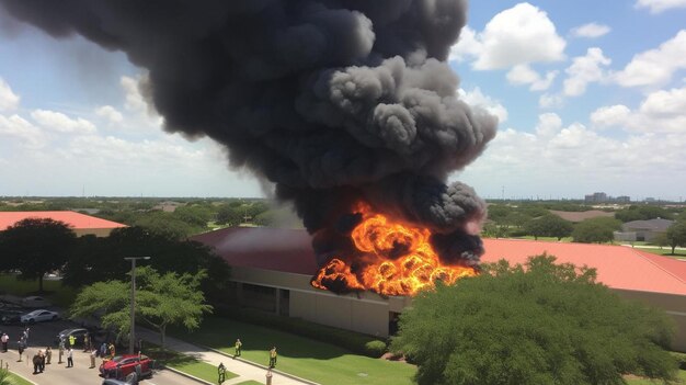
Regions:
[[[276,369],[323,385],[410,385],[415,366],[353,354],[336,346],[295,335],[209,317],[193,333],[174,332],[190,342],[233,354],[233,342],[243,342],[241,358],[266,365],[268,350],[278,351]]]

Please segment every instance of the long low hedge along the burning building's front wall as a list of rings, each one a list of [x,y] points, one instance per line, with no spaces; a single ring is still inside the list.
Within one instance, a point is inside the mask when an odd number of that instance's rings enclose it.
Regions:
[[[239,321],[265,326],[290,332],[313,340],[328,342],[347,349],[354,353],[379,358],[386,351],[386,342],[376,337],[333,328],[302,320],[300,318],[277,316],[255,309],[215,308],[215,314]]]

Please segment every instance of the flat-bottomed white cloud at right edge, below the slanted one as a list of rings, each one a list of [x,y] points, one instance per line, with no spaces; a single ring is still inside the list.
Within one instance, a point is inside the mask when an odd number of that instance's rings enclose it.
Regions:
[[[638,110],[626,105],[597,109],[591,122],[597,128],[620,127],[634,133],[686,134],[686,88],[650,93]],[[685,135],[686,136],[686,135]]]

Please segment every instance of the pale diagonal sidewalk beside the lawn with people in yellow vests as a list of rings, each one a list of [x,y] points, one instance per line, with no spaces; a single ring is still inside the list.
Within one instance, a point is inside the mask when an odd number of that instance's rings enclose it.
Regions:
[[[160,335],[157,331],[150,329],[136,327],[136,336],[144,341],[160,343]],[[184,342],[180,339],[167,336],[164,339],[164,347],[178,351],[183,354],[188,354],[205,361],[214,366],[219,366],[219,363],[224,363],[227,371],[238,374],[238,377],[226,381],[224,385],[232,385],[242,383],[244,381],[253,380],[261,384],[266,382],[266,366],[258,365],[254,363],[248,363],[241,359],[233,360],[232,356],[224,353],[194,346],[188,342]],[[272,370],[272,384],[273,385],[312,385],[316,384],[306,380],[297,380],[296,377],[284,375],[277,371]]]

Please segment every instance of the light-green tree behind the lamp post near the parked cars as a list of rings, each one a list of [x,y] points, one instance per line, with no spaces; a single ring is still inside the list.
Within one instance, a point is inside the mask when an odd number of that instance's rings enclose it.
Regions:
[[[211,313],[211,306],[205,304],[199,290],[204,276],[205,271],[160,275],[150,267],[136,268],[136,319],[160,332],[162,347],[169,325],[193,330],[199,326],[204,314]],[[103,312],[102,325],[114,328],[118,337],[123,337],[130,332],[129,293],[129,282],[96,282],[77,295],[70,315],[72,318],[91,317]]]

